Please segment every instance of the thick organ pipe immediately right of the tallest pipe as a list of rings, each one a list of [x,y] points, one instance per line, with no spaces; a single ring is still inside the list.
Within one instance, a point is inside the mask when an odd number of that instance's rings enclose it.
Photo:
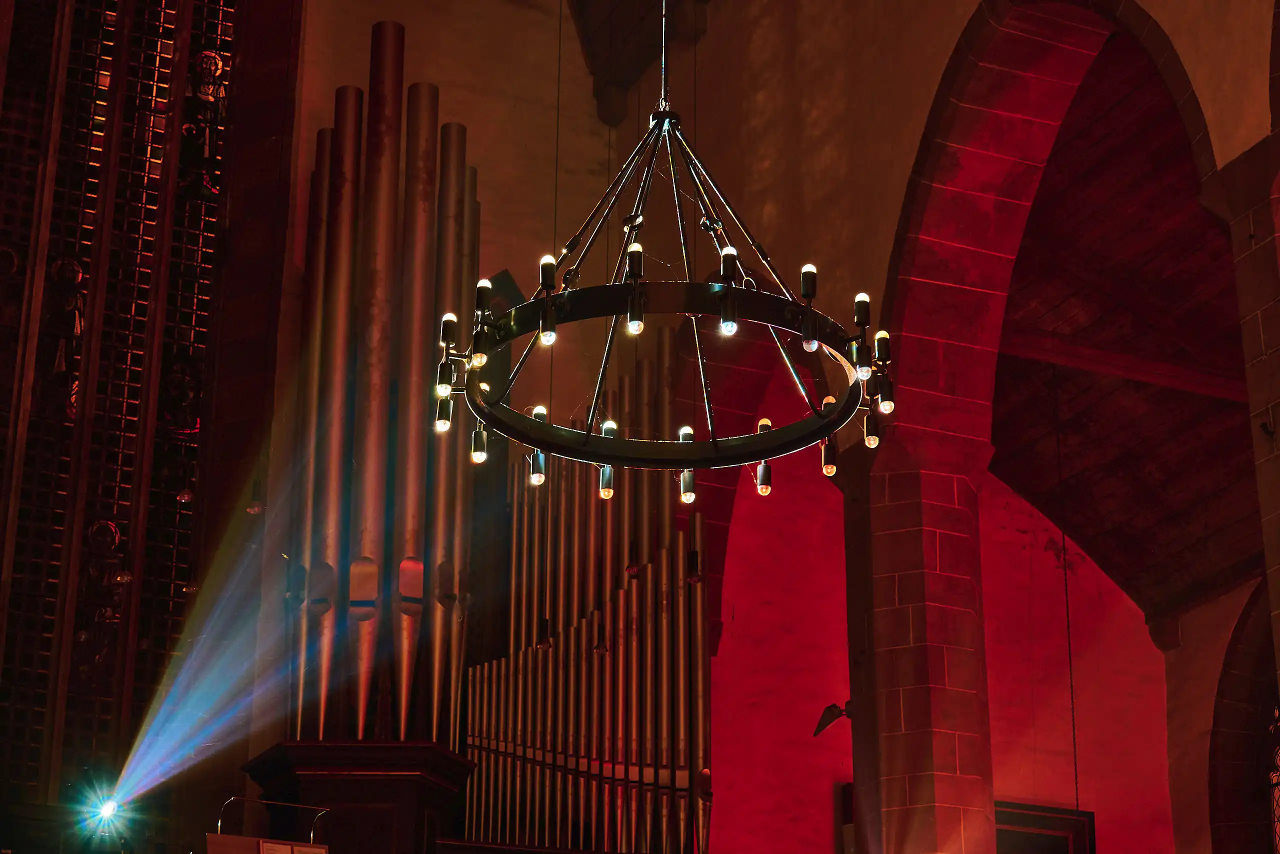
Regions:
[[[435,309],[435,157],[440,91],[429,83],[408,87],[404,115],[404,209],[401,218],[401,329],[396,415],[396,528],[392,597],[396,636],[396,700],[401,740],[408,737],[422,603],[426,595],[426,449],[430,446],[431,366],[436,357],[431,319]]]

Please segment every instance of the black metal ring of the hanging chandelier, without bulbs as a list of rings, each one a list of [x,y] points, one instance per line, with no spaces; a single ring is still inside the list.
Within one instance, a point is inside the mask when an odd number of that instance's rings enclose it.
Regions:
[[[547,298],[534,298],[504,315],[488,319],[485,334],[476,339],[483,347],[474,352],[492,357],[516,339],[536,334],[548,309],[563,324],[626,315],[637,287],[644,294],[649,315],[719,318],[724,286],[716,283],[643,282],[573,288],[552,294],[549,306]],[[835,403],[772,430],[694,442],[605,437],[549,424],[507,406],[503,401],[508,387],[490,388],[481,383],[480,371],[474,370],[467,371],[466,376],[467,405],[481,423],[529,447],[571,460],[630,469],[719,469],[748,465],[806,448],[847,424],[861,406],[863,396],[856,369],[846,356],[850,337],[844,326],[815,309],[783,296],[737,287],[732,292],[739,320],[799,334],[806,312],[812,315],[814,339],[841,365],[847,378],[847,385],[836,396]]]

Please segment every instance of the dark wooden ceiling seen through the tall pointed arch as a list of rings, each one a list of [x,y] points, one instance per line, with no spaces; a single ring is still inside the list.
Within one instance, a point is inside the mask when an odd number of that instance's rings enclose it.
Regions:
[[[1010,283],[991,470],[1147,613],[1262,571],[1226,225],[1138,42],[1068,111]]]

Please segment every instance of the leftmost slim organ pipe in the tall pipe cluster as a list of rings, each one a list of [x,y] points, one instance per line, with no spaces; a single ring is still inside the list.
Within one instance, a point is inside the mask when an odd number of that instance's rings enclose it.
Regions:
[[[307,211],[307,303],[306,303],[306,342],[303,356],[303,378],[300,397],[302,416],[298,446],[302,449],[302,484],[298,507],[298,563],[306,572],[306,585],[302,594],[302,607],[298,608],[297,661],[294,670],[294,716],[293,737],[303,735],[307,708],[307,670],[311,666],[310,612],[307,590],[311,589],[311,568],[319,560],[315,542],[316,504],[316,439],[320,411],[320,353],[324,329],[324,255],[329,227],[329,169],[333,159],[333,128],[321,128],[316,133],[316,165],[311,173],[311,198]]]

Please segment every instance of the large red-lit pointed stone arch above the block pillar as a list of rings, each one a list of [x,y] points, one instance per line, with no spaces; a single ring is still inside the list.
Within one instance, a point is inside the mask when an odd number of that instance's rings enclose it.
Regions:
[[[1169,86],[1201,181],[1215,172],[1190,78],[1135,3],[984,0],[943,73],[899,223],[884,316],[901,405],[887,446],[910,447],[922,431],[989,440],[1005,294],[1027,216],[1071,97],[1120,27]]]

